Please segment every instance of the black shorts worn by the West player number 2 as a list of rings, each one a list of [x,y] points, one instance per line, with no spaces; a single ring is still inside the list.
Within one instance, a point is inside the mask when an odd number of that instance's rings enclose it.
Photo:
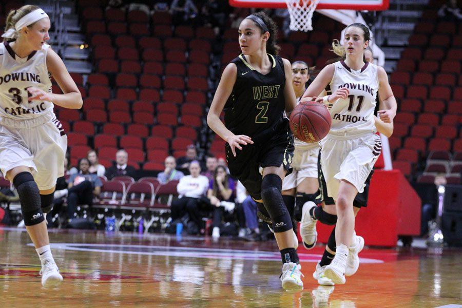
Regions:
[[[282,164],[288,174],[292,171],[290,165],[294,156],[294,137],[288,127],[288,121],[284,122],[287,122],[287,125],[282,125],[282,129],[273,133],[266,142],[241,145],[242,150],[236,149],[236,157],[233,156],[229,144],[225,145],[230,174],[241,181],[248,194],[255,200],[261,200],[263,178],[260,167],[279,167]]]

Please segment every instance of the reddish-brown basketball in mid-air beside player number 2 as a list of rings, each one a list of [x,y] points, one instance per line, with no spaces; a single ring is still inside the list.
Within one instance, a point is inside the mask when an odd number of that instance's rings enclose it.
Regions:
[[[291,130],[295,138],[303,142],[318,142],[331,129],[331,114],[320,103],[301,103],[294,108],[290,117]]]

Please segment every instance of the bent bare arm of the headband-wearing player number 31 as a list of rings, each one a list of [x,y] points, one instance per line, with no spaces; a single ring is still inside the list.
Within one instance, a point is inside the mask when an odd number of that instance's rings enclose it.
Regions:
[[[29,87],[27,90],[32,95],[29,101],[46,100],[64,108],[82,108],[82,94],[79,88],[67,71],[63,60],[51,48],[47,52],[47,67],[64,94],[49,93],[36,87]]]

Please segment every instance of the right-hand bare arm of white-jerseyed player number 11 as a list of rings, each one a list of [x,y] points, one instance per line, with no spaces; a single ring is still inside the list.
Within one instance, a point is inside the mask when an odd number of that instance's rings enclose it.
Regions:
[[[384,123],[393,123],[398,105],[388,82],[387,72],[382,67],[377,66],[377,75],[379,81],[378,94],[380,97],[380,110],[377,113],[380,120]]]

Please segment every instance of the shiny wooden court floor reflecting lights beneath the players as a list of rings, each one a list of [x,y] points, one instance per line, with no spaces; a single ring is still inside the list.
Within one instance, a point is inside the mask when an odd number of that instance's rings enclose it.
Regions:
[[[312,278],[322,247],[299,247],[304,291],[281,289],[275,243],[52,230],[64,282],[45,289],[24,229],[0,228],[0,307],[462,307],[462,250],[364,249],[347,283]]]

